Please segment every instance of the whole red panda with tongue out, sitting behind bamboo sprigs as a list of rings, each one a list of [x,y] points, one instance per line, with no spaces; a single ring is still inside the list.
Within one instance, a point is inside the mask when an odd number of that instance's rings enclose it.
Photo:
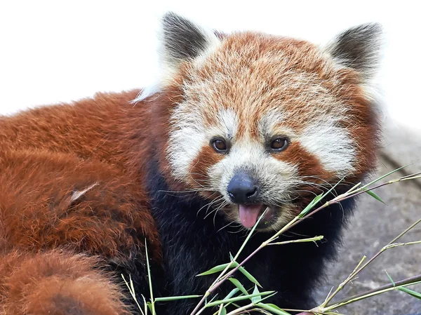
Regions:
[[[338,180],[375,169],[370,80],[381,29],[327,46],[162,19],[158,83],[0,118],[0,314],[128,314],[121,285],[148,296],[203,294],[266,210],[242,255]],[[314,307],[354,201],[332,205],[246,264],[271,301]],[[241,275],[239,275],[241,277]],[[220,295],[232,288],[221,288]],[[197,300],[161,304],[189,314]],[[203,314],[213,314],[203,312]]]

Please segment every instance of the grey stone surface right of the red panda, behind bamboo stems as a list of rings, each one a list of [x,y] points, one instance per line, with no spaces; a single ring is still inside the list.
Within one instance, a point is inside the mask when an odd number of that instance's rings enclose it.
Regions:
[[[380,159],[377,176],[393,170],[394,161],[400,165],[412,163],[406,168],[408,173],[421,171],[421,132],[389,123],[385,130],[381,155],[383,157]],[[401,174],[396,173],[390,178],[400,176]],[[360,199],[359,208],[344,234],[339,261],[328,268],[326,285],[319,288],[317,295],[319,302],[324,300],[332,286],[347,278],[363,255],[369,259],[421,217],[421,181],[388,185],[377,189],[376,193],[386,204],[368,195]],[[401,241],[420,240],[421,223],[401,239]],[[344,297],[389,284],[385,270],[394,281],[421,274],[421,244],[401,246],[382,253],[373,264],[359,274],[358,279],[349,283],[335,300],[342,300]],[[410,288],[421,292],[420,285]],[[349,304],[338,311],[347,315],[421,314],[421,300],[394,291]]]

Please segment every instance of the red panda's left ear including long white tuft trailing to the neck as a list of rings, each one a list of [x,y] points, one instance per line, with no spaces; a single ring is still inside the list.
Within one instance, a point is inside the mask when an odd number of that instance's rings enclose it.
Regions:
[[[133,102],[145,100],[161,91],[177,74],[182,62],[201,60],[220,46],[220,39],[212,30],[204,29],[173,12],[163,15],[159,37],[159,79],[145,88]]]

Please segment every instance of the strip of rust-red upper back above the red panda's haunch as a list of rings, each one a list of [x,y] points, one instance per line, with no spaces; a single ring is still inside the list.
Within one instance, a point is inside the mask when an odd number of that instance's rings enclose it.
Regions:
[[[72,104],[38,107],[1,117],[0,146],[74,154],[80,159],[98,159],[125,167],[128,144],[123,139],[131,127],[129,113],[138,116],[140,124],[145,116],[142,106],[131,104],[138,93],[98,93]]]

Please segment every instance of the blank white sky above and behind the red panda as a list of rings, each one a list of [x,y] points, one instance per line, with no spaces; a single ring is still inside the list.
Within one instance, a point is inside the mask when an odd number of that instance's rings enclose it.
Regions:
[[[421,130],[417,1],[0,1],[0,114],[97,91],[142,88],[157,72],[159,18],[175,11],[224,32],[325,43],[363,22],[385,27],[385,112]]]

